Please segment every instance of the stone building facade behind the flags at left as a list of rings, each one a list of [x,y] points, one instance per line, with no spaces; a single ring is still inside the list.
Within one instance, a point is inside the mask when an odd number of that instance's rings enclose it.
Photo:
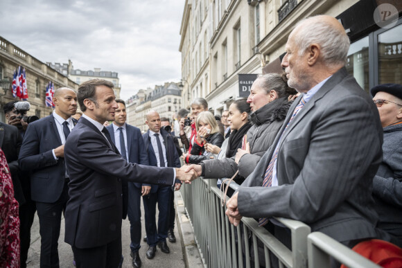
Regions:
[[[22,66],[26,71],[26,84],[28,89],[28,102],[30,102],[30,110],[28,116],[36,115],[39,118],[49,116],[53,109],[46,107],[45,96],[46,86],[49,82],[53,82],[54,88],[69,87],[71,89],[78,89],[78,84],[73,82],[66,75],[55,71],[44,62],[41,62],[33,55],[23,51],[21,48],[12,44],[8,40],[0,36],[0,80],[8,79],[12,81],[12,76],[15,69]],[[1,89],[1,111],[0,120],[5,122],[6,118],[3,113],[3,105],[11,100],[19,100],[19,98],[12,97],[11,89]]]

